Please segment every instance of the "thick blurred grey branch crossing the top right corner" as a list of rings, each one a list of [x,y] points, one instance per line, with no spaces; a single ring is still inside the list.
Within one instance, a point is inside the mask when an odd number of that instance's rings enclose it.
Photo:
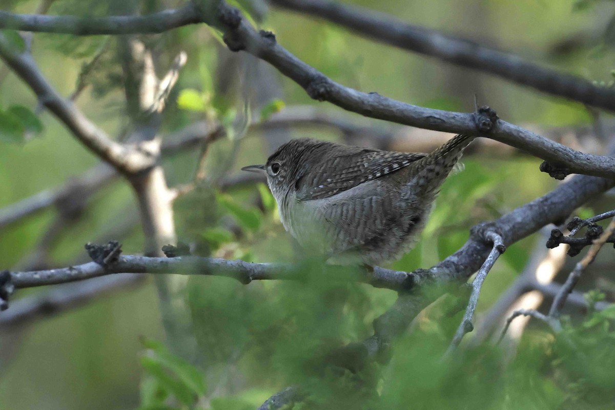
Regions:
[[[324,18],[368,39],[493,74],[556,97],[615,111],[614,90],[599,87],[581,77],[541,67],[517,55],[413,26],[390,15],[349,4],[323,0],[270,1],[282,9]]]

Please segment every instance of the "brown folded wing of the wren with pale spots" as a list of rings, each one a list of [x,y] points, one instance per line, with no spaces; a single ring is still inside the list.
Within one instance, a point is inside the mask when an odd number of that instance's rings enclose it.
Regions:
[[[296,184],[298,200],[328,198],[359,184],[405,168],[427,154],[360,149],[325,160],[318,170],[307,170]]]

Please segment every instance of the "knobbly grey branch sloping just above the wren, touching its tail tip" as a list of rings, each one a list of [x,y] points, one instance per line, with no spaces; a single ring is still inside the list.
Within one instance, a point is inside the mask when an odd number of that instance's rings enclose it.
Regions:
[[[427,109],[391,100],[378,93],[362,93],[344,87],[292,55],[276,42],[272,33],[257,32],[236,9],[226,6],[224,2],[221,2],[219,21],[229,49],[245,50],[268,61],[316,100],[329,101],[363,116],[413,127],[488,136],[554,164],[565,164],[569,173],[615,176],[615,159],[611,157],[582,154],[502,120],[491,122],[480,113]]]

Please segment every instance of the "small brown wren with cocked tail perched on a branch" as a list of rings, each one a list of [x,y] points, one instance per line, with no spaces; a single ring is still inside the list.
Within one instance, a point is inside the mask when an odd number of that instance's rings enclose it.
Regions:
[[[242,170],[267,174],[282,224],[301,246],[338,263],[375,266],[411,249],[472,140],[457,135],[421,154],[305,138]]]

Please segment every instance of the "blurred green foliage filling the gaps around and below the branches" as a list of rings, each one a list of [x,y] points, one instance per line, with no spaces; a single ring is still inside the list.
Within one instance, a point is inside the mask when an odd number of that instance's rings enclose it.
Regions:
[[[253,20],[261,18],[257,3],[237,2],[250,10]],[[614,54],[607,40],[615,9],[610,1],[354,3],[498,45],[605,86],[612,80]],[[49,12],[146,14],[181,4],[179,0],[55,0]],[[36,6],[32,0],[1,4],[2,9],[25,13]],[[274,31],[280,44],[334,81],[365,92],[456,111],[472,111],[477,93],[479,103],[488,103],[500,117],[523,124],[576,126],[587,125],[592,118],[579,104],[376,44],[312,18],[272,8],[261,26]],[[15,47],[23,47],[17,33],[5,31],[4,35]],[[564,55],[554,54],[559,44],[577,37],[583,40],[581,45]],[[246,95],[252,95],[258,84],[246,74],[245,66],[238,68],[228,61],[220,66],[232,57],[218,34],[204,26],[186,26],[143,40],[161,70],[180,50],[189,56],[165,109],[162,135],[208,120],[219,122],[229,136],[236,137],[212,144],[207,180],[175,203],[178,237],[196,243],[197,252],[205,255],[260,262],[295,260],[300,255],[279,222],[266,186],[227,192],[215,188],[242,165],[262,163],[274,148],[266,138],[259,138],[266,133],[245,135],[250,120],[246,112],[251,111]],[[77,100],[79,108],[109,134],[125,135],[129,119],[118,39],[35,34],[32,50],[60,93],[70,95],[83,82],[87,88]],[[248,68],[256,66],[256,60],[245,61]],[[225,76],[230,84],[223,87]],[[252,107],[260,120],[284,106],[315,104],[295,83],[282,77],[280,82],[284,98],[268,97]],[[56,119],[46,112],[34,114],[36,99],[14,74],[7,74],[0,87],[1,207],[60,186],[96,164]],[[339,112],[332,106],[321,108]],[[26,133],[36,133],[38,138],[25,141]],[[292,130],[292,136],[336,138],[320,128]],[[170,185],[192,178],[198,151],[165,160]],[[464,163],[466,169],[443,186],[421,241],[392,264],[394,269],[432,266],[465,242],[473,224],[497,218],[554,186],[554,181],[538,173],[536,159],[474,156]],[[579,215],[593,215],[591,206]],[[50,261],[58,266],[82,261],[83,243],[105,237],[109,227],[120,224],[127,229],[113,239],[121,239],[125,253],[140,253],[143,239],[129,212],[134,210],[127,184],[106,187],[52,245]],[[54,218],[55,210],[47,210],[0,232],[4,250],[0,269],[25,264]],[[491,306],[522,271],[535,240],[510,246],[499,259],[483,288],[479,310]],[[197,340],[195,357],[181,357],[174,346],[161,342],[165,335],[151,283],[31,328],[2,333],[0,408],[244,410],[255,409],[288,385],[303,388],[304,401],[296,410],[613,408],[612,309],[590,310],[582,319],[567,319],[558,337],[540,323],[530,326],[516,354],[482,344],[443,359],[462,313],[451,315],[445,303],[438,301],[415,320],[411,332],[394,341],[386,364],[370,362],[353,373],[340,363],[343,358],[335,357],[336,349],[370,336],[373,321],[397,294],[339,283],[324,277],[317,263],[304,264],[301,274],[301,282],[250,285],[228,278],[189,277],[185,292],[173,302],[188,306]],[[20,291],[17,296],[34,293]],[[604,295],[594,292],[588,297],[598,301]]]

